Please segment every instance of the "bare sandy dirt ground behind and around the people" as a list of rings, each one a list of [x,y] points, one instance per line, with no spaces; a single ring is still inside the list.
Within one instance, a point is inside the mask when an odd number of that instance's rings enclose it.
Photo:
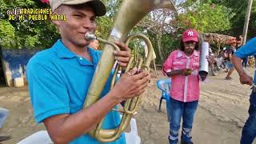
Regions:
[[[248,71],[253,73],[253,69]],[[202,83],[201,98],[195,116],[193,140],[196,144],[238,144],[242,126],[248,116],[250,86],[238,82],[238,74],[232,80],[224,80],[226,74],[210,77],[209,83]],[[158,78],[161,76],[158,71]],[[166,103],[158,112],[161,91],[153,78],[142,98],[141,108],[135,115],[142,144],[166,144],[169,123],[166,120]],[[27,87],[0,87],[0,106],[10,110],[10,115],[0,134],[10,134],[12,139],[3,144],[13,144],[44,126],[34,122]],[[256,142],[254,142],[256,143]]]

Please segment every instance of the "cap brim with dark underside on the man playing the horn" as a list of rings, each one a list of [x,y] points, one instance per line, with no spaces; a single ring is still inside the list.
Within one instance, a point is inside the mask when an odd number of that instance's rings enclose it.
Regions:
[[[96,16],[103,16],[106,14],[106,6],[102,1],[99,0],[73,0],[63,2],[64,5],[80,5],[83,3],[90,3],[90,6],[93,6],[94,13]]]

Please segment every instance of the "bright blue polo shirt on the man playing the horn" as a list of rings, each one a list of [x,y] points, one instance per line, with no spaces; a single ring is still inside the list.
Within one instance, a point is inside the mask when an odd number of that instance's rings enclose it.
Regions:
[[[48,50],[42,50],[30,58],[26,77],[29,82],[30,98],[36,122],[57,114],[74,114],[82,110],[90,82],[102,52],[88,48],[93,62],[74,54],[61,40]],[[110,90],[110,78],[102,91],[102,96]],[[118,126],[118,112],[110,111],[103,122],[104,129]],[[72,131],[70,131],[72,133]],[[71,144],[99,144],[89,134],[75,138]],[[111,144],[126,143],[122,134]]]

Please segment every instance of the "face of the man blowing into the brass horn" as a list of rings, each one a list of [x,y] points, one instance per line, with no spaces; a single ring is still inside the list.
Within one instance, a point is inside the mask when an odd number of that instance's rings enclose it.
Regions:
[[[86,40],[86,32],[96,29],[94,10],[89,6],[61,6],[58,8],[60,14],[66,14],[66,21],[55,22],[62,35],[62,41],[71,42],[76,46],[85,47],[89,45]],[[56,11],[58,14],[58,11]]]

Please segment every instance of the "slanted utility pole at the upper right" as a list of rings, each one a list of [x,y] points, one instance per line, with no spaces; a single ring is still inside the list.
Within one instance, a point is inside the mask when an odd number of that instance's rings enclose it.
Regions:
[[[243,26],[243,33],[242,33],[242,45],[246,44],[247,31],[248,31],[248,26],[250,21],[250,10],[252,5],[253,5],[253,0],[248,0],[248,6],[246,10],[246,21],[245,21],[245,25]]]

